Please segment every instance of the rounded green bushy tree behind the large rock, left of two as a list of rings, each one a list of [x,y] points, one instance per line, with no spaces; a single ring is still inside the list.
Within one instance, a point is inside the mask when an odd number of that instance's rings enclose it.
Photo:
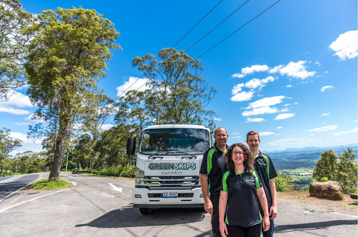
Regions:
[[[312,177],[320,180],[327,177],[328,180],[335,180],[338,156],[333,150],[325,150],[321,153],[321,158],[317,161],[313,170]]]

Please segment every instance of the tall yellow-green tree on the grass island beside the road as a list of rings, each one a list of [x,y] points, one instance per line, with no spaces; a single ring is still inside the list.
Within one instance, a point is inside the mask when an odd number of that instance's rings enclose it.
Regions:
[[[34,117],[49,122],[33,132],[51,128],[54,161],[49,179],[58,180],[63,141],[99,107],[96,82],[105,76],[110,49],[121,49],[115,43],[119,32],[95,10],[81,7],[43,11],[29,31],[35,36],[25,64],[28,94],[38,107]]]

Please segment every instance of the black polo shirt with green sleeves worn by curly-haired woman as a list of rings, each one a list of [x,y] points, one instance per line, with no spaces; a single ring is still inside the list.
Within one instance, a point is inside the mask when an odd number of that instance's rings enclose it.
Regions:
[[[228,193],[225,222],[231,226],[250,227],[261,223],[262,217],[258,207],[256,189],[262,187],[256,171],[227,171],[222,180],[221,190]]]

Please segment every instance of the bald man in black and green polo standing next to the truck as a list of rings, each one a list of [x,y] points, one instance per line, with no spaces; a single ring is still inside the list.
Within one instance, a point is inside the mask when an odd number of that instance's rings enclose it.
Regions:
[[[223,174],[227,171],[224,160],[229,135],[226,129],[218,127],[214,133],[215,143],[204,153],[200,167],[200,183],[205,211],[211,214],[213,237],[221,237],[219,226],[219,197]],[[209,196],[210,193],[210,196]]]

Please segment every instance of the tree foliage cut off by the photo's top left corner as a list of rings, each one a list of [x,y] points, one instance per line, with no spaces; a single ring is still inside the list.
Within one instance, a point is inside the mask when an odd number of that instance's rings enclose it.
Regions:
[[[0,101],[25,84],[23,57],[30,39],[25,29],[32,22],[18,0],[0,0]]]

